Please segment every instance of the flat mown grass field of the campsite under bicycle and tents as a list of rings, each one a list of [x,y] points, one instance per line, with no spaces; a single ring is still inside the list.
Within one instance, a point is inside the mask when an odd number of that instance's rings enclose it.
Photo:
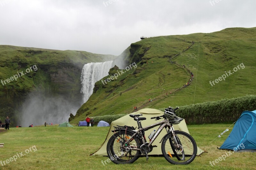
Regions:
[[[3,164],[4,166],[0,164],[0,169],[255,169],[256,160],[253,159],[255,153],[246,152],[233,153],[215,166],[210,165],[210,161],[228,152],[217,149],[217,146],[220,147],[228,137],[233,126],[221,138],[217,136],[228,126],[228,124],[188,126],[197,145],[206,152],[197,156],[191,164],[183,166],[172,165],[162,156],[151,156],[148,161],[145,157],[141,157],[130,165],[116,165],[112,162],[103,165],[102,161],[107,160],[108,157],[90,156],[90,154],[100,148],[108,133],[108,127],[10,128],[8,131],[0,132],[0,143],[4,143],[4,148],[0,148],[0,161],[6,161],[21,152],[24,154],[27,151],[27,154],[17,158],[16,162]],[[215,140],[209,144],[213,139]],[[32,148],[31,151],[29,148]]]

